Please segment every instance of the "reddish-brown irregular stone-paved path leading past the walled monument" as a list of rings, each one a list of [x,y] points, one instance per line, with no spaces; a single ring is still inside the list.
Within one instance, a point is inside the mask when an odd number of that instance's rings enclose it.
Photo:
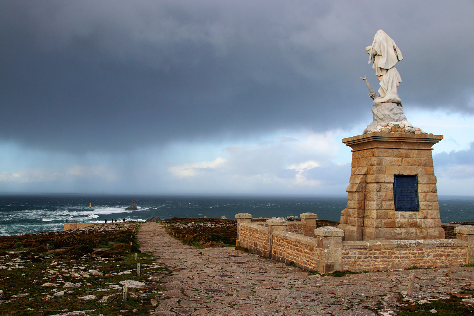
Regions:
[[[406,291],[411,272],[416,277],[413,300],[443,299],[474,283],[472,267],[369,272],[340,278],[309,275],[234,248],[184,245],[157,223],[142,224],[138,242],[142,251],[173,271],[161,280],[162,294],[169,298],[159,300],[155,312],[150,313],[158,316],[394,315],[387,311],[400,303],[396,298]]]

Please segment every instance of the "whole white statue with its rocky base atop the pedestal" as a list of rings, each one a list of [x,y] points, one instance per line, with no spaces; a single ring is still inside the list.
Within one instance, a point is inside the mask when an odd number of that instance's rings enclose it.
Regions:
[[[380,82],[378,94],[372,89],[367,77],[360,77],[367,84],[369,97],[374,100],[372,112],[374,121],[364,130],[370,132],[387,132],[391,127],[398,125],[403,133],[424,134],[419,128],[413,127],[403,114],[401,100],[397,93],[401,77],[395,64],[403,59],[400,48],[383,30],[378,30],[372,45],[365,48],[370,55],[369,64],[373,63],[377,79]]]

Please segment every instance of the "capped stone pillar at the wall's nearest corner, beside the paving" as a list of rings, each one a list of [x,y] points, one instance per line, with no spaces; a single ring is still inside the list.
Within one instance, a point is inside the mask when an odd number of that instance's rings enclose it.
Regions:
[[[317,270],[322,273],[342,271],[342,238],[344,231],[337,227],[324,226],[314,230],[318,245]]]

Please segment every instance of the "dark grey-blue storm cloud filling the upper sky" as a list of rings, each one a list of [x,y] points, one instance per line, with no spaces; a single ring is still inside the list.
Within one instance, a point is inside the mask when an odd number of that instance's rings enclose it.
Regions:
[[[1,1],[0,137],[68,151],[370,119],[365,46],[405,105],[472,113],[471,1]]]

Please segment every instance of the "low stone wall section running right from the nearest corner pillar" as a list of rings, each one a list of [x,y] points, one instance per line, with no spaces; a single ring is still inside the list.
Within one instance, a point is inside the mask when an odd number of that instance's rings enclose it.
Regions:
[[[467,264],[468,244],[461,239],[342,242],[343,271],[390,271],[459,267]]]

